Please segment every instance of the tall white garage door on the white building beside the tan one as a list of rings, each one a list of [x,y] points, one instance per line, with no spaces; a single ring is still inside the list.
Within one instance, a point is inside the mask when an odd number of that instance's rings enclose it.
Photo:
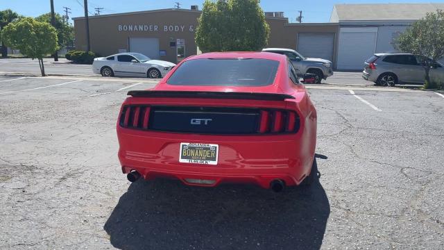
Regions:
[[[339,31],[338,69],[363,69],[375,53],[377,28],[341,28]]]

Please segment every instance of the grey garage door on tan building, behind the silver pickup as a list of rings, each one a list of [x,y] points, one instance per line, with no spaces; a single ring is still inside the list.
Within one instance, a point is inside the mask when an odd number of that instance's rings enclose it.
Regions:
[[[299,33],[296,50],[305,57],[333,61],[334,33]]]

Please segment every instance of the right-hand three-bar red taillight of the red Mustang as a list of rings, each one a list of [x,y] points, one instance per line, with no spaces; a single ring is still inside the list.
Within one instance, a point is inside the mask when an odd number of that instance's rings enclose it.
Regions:
[[[259,133],[296,133],[300,120],[292,110],[262,110]]]

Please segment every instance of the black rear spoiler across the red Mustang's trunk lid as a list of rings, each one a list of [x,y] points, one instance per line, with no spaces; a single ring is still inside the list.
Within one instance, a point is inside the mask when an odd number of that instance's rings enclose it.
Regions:
[[[284,101],[295,99],[289,94],[256,93],[256,92],[202,92],[202,91],[163,91],[131,90],[132,97],[171,97],[171,98],[210,98],[210,99],[248,99],[265,101]]]

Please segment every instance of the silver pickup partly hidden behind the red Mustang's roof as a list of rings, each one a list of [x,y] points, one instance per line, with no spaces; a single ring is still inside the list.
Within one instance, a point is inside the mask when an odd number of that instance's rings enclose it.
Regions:
[[[288,56],[299,77],[304,76],[305,73],[315,74],[316,83],[321,83],[322,79],[327,79],[327,77],[333,75],[333,64],[329,60],[305,58],[293,49],[267,48],[262,49],[262,51],[280,53]]]

